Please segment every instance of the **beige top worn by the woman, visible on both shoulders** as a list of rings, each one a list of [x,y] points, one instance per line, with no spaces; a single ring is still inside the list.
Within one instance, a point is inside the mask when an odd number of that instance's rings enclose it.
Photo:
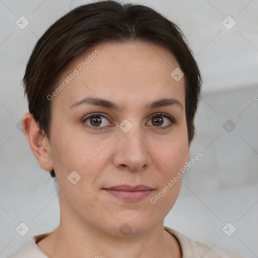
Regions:
[[[172,228],[164,226],[164,229],[177,238],[182,249],[182,258],[243,258],[242,256],[238,256],[225,249],[214,246],[211,247],[210,245],[192,240]],[[32,236],[20,251],[7,258],[47,258],[47,256],[38,248],[36,243],[49,234],[50,232],[45,232]]]

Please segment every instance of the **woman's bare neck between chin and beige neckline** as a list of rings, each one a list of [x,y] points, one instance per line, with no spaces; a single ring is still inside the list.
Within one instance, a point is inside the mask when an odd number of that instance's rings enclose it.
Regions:
[[[168,258],[182,257],[177,240],[163,228],[163,221],[148,234],[116,236],[91,225],[60,220],[49,236],[37,243],[47,256],[54,258]]]

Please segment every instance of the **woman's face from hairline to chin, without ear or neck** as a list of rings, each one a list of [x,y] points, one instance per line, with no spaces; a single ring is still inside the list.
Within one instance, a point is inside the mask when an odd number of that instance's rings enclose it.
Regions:
[[[99,44],[70,63],[51,95],[48,142],[61,218],[114,235],[163,221],[181,185],[173,178],[189,159],[185,81],[171,77],[176,68],[168,50],[142,42]],[[151,106],[164,98],[169,105]],[[117,185],[152,190],[107,190]]]

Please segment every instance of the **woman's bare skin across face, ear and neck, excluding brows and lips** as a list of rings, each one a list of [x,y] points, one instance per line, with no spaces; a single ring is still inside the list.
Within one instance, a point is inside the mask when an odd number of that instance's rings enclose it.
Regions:
[[[59,187],[60,225],[37,246],[55,258],[182,257],[176,238],[163,229],[182,177],[155,204],[150,202],[190,157],[185,81],[170,76],[180,66],[171,52],[154,44],[105,43],[73,60],[59,83],[95,49],[99,54],[51,101],[50,139],[39,131],[32,114],[23,117],[34,156],[44,170],[54,168]],[[85,97],[96,96],[124,109],[70,108]],[[182,109],[178,105],[144,109],[149,102],[167,97],[177,99]],[[106,117],[100,117],[100,125],[83,121],[93,112]],[[162,116],[163,124],[155,126],[150,116],[160,117],[155,116],[157,112],[171,115],[176,123],[160,129],[172,122]],[[124,119],[133,125],[127,133],[119,128]],[[94,125],[100,130],[94,130]],[[74,170],[81,176],[76,184],[67,178]],[[119,184],[145,184],[154,190],[142,200],[127,202],[102,189]],[[132,228],[128,235],[119,230],[124,223]]]

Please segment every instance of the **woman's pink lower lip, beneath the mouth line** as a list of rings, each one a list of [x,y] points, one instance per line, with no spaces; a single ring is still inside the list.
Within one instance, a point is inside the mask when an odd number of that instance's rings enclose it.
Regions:
[[[146,191],[121,191],[121,190],[110,190],[110,189],[104,189],[111,193],[111,195],[120,198],[125,201],[139,201],[147,196],[150,195],[152,190],[146,190]]]

